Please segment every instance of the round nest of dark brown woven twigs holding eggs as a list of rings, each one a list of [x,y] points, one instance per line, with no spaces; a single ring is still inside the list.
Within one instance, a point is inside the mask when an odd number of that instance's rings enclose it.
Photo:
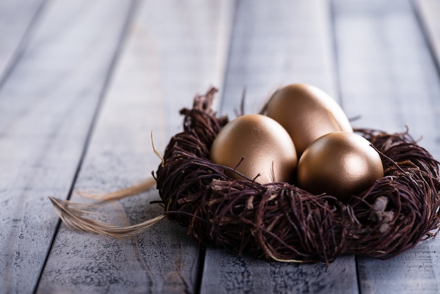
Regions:
[[[332,262],[340,255],[389,258],[435,236],[439,228],[438,162],[408,132],[358,129],[381,153],[384,177],[343,204],[287,183],[232,179],[209,158],[227,122],[216,117],[215,89],[183,109],[157,170],[169,219],[199,243],[289,262]],[[433,230],[434,233],[432,233]]]

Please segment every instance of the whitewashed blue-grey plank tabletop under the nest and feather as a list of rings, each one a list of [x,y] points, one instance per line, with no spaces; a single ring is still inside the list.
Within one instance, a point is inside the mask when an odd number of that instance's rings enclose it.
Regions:
[[[247,113],[314,84],[356,127],[440,158],[439,0],[1,0],[0,293],[440,293],[440,243],[382,261],[283,264],[201,250],[167,220],[119,241],[67,229],[48,196],[114,191],[157,169],[179,110],[219,87]],[[153,190],[105,207],[135,224]]]

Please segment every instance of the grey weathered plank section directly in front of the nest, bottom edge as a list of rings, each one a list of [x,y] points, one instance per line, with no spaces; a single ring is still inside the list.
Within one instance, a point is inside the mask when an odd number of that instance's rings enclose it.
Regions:
[[[356,293],[353,257],[325,264],[266,262],[209,248],[202,293]],[[206,278],[205,278],[206,277]]]

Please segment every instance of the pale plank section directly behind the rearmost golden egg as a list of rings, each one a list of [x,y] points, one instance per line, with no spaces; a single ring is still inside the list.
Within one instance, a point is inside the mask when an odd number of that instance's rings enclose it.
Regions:
[[[328,1],[238,1],[222,112],[233,115],[246,90],[254,113],[278,87],[310,83],[337,99]]]

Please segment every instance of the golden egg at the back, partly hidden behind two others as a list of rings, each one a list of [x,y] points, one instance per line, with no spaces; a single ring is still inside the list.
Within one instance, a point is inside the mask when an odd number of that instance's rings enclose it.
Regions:
[[[309,84],[290,84],[273,95],[266,115],[279,122],[292,137],[298,157],[320,136],[353,132],[342,108],[321,89]]]

